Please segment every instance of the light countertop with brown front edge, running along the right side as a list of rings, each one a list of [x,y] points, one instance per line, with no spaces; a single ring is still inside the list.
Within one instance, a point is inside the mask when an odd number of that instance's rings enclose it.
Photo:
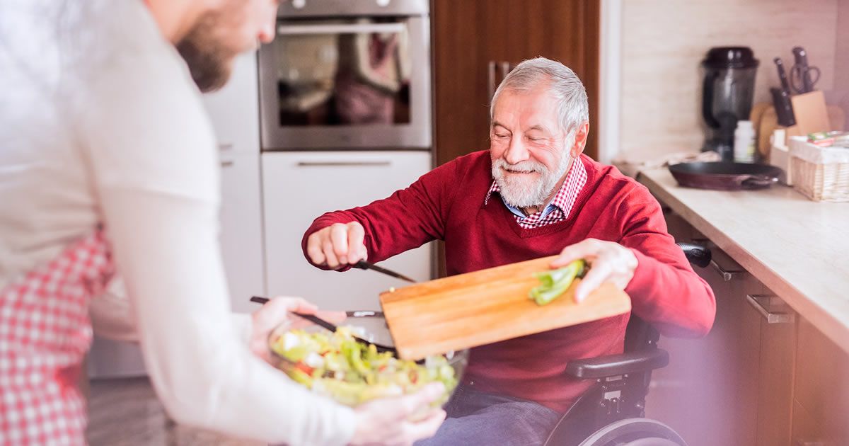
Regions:
[[[640,183],[849,353],[849,204],[795,189],[679,187],[666,168]]]

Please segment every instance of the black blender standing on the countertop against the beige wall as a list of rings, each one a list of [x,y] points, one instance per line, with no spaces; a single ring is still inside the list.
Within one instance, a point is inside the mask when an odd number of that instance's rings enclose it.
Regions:
[[[737,121],[749,119],[757,64],[747,47],[711,48],[701,61],[701,114],[707,126],[702,151],[713,150],[722,161],[734,159],[734,129]]]

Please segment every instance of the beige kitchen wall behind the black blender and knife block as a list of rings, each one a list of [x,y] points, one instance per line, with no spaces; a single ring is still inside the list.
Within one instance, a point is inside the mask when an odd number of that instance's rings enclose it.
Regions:
[[[623,1],[618,157],[645,161],[699,150],[699,64],[711,47],[752,48],[761,61],[755,102],[768,101],[768,88],[779,83],[773,58],[790,68],[797,45],[823,72],[817,88],[833,88],[838,20],[841,36],[849,33],[849,0]],[[849,43],[841,48],[849,54]],[[841,86],[849,86],[849,60],[836,63]]]

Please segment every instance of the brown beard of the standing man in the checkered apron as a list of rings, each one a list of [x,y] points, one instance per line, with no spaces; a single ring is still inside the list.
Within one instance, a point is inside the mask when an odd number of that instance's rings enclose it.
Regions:
[[[186,37],[177,42],[177,51],[183,56],[194,83],[201,92],[222,88],[230,78],[233,58],[236,56],[216,39],[219,14],[209,13],[198,20]]]

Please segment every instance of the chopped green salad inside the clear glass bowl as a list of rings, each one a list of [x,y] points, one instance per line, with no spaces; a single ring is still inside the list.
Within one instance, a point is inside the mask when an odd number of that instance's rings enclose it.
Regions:
[[[458,377],[444,356],[425,358],[424,364],[398,359],[392,353],[378,353],[374,345],[357,342],[351,327],[335,333],[290,330],[271,343],[274,353],[284,358],[278,367],[292,380],[354,406],[369,399],[413,392],[433,381],[441,381],[447,401]]]

